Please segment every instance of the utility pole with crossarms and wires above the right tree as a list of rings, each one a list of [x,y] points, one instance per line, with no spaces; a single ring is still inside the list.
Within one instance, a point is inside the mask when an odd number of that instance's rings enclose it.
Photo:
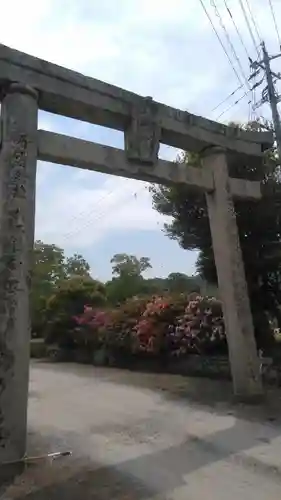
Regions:
[[[267,49],[266,49],[266,45],[264,42],[262,42],[261,47],[262,47],[262,54],[263,54],[262,61],[250,60],[251,68],[254,70],[254,73],[250,76],[249,79],[257,76],[257,74],[260,72],[261,69],[265,73],[267,86],[262,91],[262,98],[256,104],[255,108],[260,107],[265,102],[269,103],[270,108],[271,108],[274,131],[275,131],[278,156],[279,156],[279,159],[281,159],[281,122],[280,122],[280,116],[279,116],[278,106],[277,106],[281,97],[278,95],[278,93],[275,89],[275,81],[281,80],[281,74],[274,73],[271,70],[271,66],[270,66],[270,63],[273,59],[276,59],[277,57],[281,57],[281,53],[276,54],[274,56],[269,56]],[[262,83],[262,81],[263,81],[263,79],[261,81],[257,82],[254,85],[253,89],[258,87]]]

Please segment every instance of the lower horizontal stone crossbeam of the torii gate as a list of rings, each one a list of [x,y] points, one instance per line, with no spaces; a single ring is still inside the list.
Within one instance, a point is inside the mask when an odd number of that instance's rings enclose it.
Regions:
[[[129,161],[121,149],[45,130],[38,131],[38,159],[147,182],[186,184],[205,192],[214,190],[213,174],[203,168],[160,159],[153,166],[143,165]],[[261,198],[257,181],[229,178],[229,183],[233,197]]]

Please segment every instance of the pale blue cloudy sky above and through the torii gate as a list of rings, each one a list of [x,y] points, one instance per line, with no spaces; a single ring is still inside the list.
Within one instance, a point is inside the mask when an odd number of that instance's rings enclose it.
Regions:
[[[280,19],[280,2],[273,0],[273,3]],[[209,0],[205,0],[205,4],[223,38],[224,32]],[[228,4],[254,58],[254,47],[239,2],[228,0]],[[269,50],[278,51],[267,2],[250,0],[250,4]],[[247,58],[224,1],[217,0],[217,5],[247,73]],[[36,3],[10,0],[1,12],[0,41],[212,119],[217,119],[244,93],[241,89],[232,100],[212,111],[239,82],[199,0],[40,0]],[[278,64],[280,68],[277,61],[277,68]],[[220,120],[246,121],[250,98],[242,99]],[[269,116],[267,106],[260,112]],[[75,120],[41,112],[39,125],[47,130],[123,147],[120,132]],[[173,148],[161,148],[162,157],[173,159],[176,153]],[[119,252],[151,257],[150,275],[165,276],[175,271],[192,274],[196,253],[184,251],[170,241],[162,232],[164,222],[165,219],[152,210],[145,183],[38,164],[36,238],[58,244],[67,254],[82,253],[91,264],[93,276],[99,279],[110,278],[110,258]]]

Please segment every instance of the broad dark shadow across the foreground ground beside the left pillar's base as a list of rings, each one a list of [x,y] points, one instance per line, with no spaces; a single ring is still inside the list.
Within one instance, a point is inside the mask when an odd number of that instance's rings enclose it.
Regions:
[[[243,433],[243,442],[241,441]],[[279,431],[276,430],[276,436]],[[234,443],[231,451],[222,443]],[[236,446],[235,446],[236,443]],[[70,460],[64,465],[30,468],[35,478],[30,492],[20,481],[14,490],[7,490],[3,500],[148,500],[155,495],[168,498],[173,490],[188,484],[188,474],[214,462],[229,460],[232,466],[243,466],[256,473],[271,475],[280,480],[278,471],[273,468],[264,470],[264,465],[250,457],[242,458],[239,453],[256,445],[252,437],[245,439],[242,423],[235,422],[229,429],[218,431],[206,443],[195,437],[164,450],[145,454],[126,460],[117,465],[100,467],[97,464],[83,463],[83,459]],[[51,472],[50,472],[51,470]],[[42,477],[44,480],[42,481]],[[279,478],[279,479],[278,479]],[[44,484],[48,482],[49,484]],[[50,484],[51,482],[51,484]],[[280,482],[281,487],[281,482]],[[23,492],[24,491],[24,492]]]

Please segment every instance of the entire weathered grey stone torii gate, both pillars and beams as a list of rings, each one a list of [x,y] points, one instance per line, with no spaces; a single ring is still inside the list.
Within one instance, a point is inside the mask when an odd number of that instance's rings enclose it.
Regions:
[[[262,161],[272,135],[226,127],[3,45],[0,88],[0,464],[26,448],[37,159],[206,193],[234,393],[260,396],[233,198],[258,200],[261,189],[230,178],[227,162]],[[38,130],[38,109],[122,130],[125,150]],[[160,142],[204,151],[203,168],[158,159]]]

